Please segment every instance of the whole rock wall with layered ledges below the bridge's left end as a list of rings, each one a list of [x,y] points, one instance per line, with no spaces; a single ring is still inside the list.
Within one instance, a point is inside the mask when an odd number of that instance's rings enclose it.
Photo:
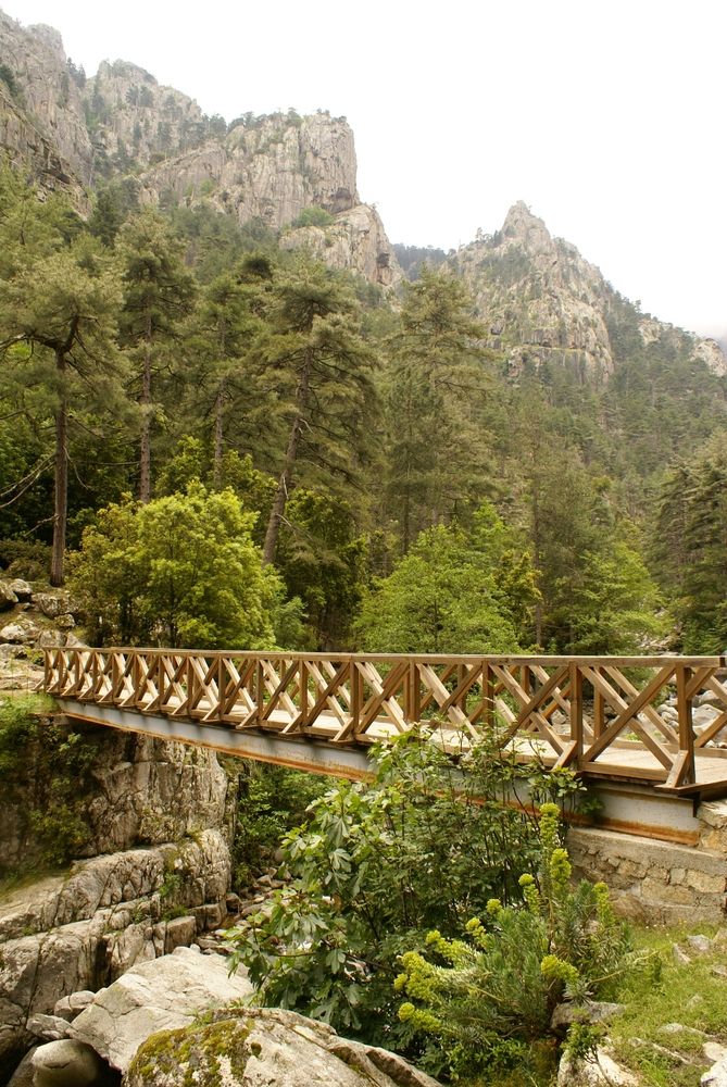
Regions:
[[[46,727],[61,741],[71,733],[62,717]],[[42,863],[34,812],[64,817],[45,807],[42,720],[36,732],[0,792],[0,857],[10,870]],[[215,754],[86,726],[80,742],[86,859],[0,902],[0,1083],[49,1037],[43,1016],[59,1000],[192,942],[239,904],[228,897],[236,790]]]

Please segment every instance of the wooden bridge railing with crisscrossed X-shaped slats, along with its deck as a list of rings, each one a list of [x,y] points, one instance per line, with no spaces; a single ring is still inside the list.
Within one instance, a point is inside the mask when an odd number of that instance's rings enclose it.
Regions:
[[[366,745],[434,720],[453,742],[487,729],[524,758],[679,789],[697,780],[700,757],[727,758],[725,677],[722,657],[112,648],[48,649],[45,688],[61,699],[331,744]]]

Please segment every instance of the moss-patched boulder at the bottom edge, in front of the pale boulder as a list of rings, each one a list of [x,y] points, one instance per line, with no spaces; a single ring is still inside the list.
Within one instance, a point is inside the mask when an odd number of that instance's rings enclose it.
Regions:
[[[211,1022],[209,1021],[211,1019]],[[402,1057],[296,1012],[226,1008],[142,1045],[125,1087],[437,1087]]]

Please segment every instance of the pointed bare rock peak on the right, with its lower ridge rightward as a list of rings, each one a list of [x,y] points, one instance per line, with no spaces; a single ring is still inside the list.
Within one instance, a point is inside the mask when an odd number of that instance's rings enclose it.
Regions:
[[[515,379],[555,364],[581,384],[607,380],[617,366],[611,329],[617,305],[630,307],[644,343],[668,341],[714,373],[727,373],[716,341],[652,317],[639,320],[636,308],[616,296],[599,268],[569,242],[552,238],[522,201],[510,209],[502,229],[479,234],[457,250],[450,265],[471,287],[487,320],[490,346],[504,351]]]

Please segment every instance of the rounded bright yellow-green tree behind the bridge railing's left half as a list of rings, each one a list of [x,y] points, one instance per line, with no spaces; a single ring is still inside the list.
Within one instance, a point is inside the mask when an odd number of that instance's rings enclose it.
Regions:
[[[72,558],[72,586],[99,645],[265,649],[280,585],[231,490],[192,482],[139,507],[100,510]]]

